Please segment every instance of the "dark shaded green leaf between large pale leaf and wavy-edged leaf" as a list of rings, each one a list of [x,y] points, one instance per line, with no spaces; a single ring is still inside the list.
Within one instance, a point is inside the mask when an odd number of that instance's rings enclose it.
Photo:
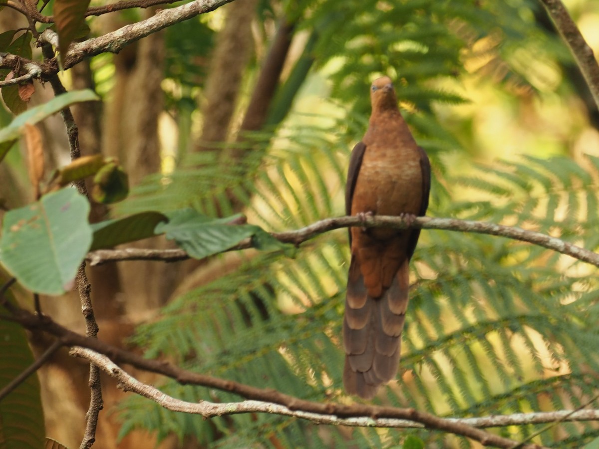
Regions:
[[[95,223],[92,225],[93,243],[90,251],[155,236],[156,225],[167,221],[167,217],[161,213],[142,212],[124,219]]]

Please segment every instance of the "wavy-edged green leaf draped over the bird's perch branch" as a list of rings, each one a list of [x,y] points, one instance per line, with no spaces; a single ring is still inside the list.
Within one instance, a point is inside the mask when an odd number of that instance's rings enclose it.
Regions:
[[[167,216],[169,222],[156,226],[156,233],[164,232],[168,239],[176,241],[177,245],[195,259],[222,253],[246,238],[252,238],[258,249],[274,250],[286,246],[259,226],[229,224],[238,216],[213,219],[190,208],[175,211]],[[256,242],[253,241],[254,238]]]

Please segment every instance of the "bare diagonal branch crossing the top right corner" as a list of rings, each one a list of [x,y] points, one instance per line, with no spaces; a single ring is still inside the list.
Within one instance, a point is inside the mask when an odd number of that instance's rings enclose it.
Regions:
[[[580,34],[580,30],[561,0],[541,0],[541,2],[551,16],[555,28],[574,55],[574,60],[585,77],[595,104],[599,108],[599,65],[597,65],[592,48]]]

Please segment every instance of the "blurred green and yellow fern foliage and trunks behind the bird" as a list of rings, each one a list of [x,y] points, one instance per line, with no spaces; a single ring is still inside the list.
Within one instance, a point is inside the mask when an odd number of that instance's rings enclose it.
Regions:
[[[565,3],[597,53],[599,4]],[[88,23],[100,35],[144,17]],[[339,216],[349,151],[367,127],[368,86],[386,74],[432,162],[429,215],[599,245],[599,112],[540,2],[237,0],[80,66],[63,81],[104,98],[102,108],[76,111],[81,147],[120,157],[136,184],[96,217],[192,206],[213,216],[243,211],[285,230]],[[52,128],[56,165],[67,148]],[[3,170],[19,198],[0,192],[19,204],[29,193],[12,153]],[[319,236],[293,259],[246,251],[104,267],[91,274],[100,337],[193,371],[349,401],[340,347],[346,235]],[[149,245],[169,244],[141,244]],[[437,230],[422,233],[413,260],[400,375],[375,404],[469,417],[571,409],[599,393],[594,267],[523,242]],[[239,399],[153,381],[187,401]],[[53,386],[43,388],[47,432],[66,444],[47,399]],[[116,435],[120,447],[398,447],[409,435],[427,448],[477,447],[426,430],[254,414],[202,420],[111,390],[105,398],[99,448],[118,447]],[[541,427],[494,431],[524,439]],[[582,447],[597,435],[596,423],[562,423],[534,441]]]

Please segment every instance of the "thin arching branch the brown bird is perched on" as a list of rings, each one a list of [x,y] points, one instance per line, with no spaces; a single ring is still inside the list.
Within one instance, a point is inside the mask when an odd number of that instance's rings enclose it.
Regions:
[[[298,230],[286,232],[273,232],[271,235],[284,243],[292,243],[296,246],[305,241],[314,238],[324,232],[341,227],[365,226],[365,227],[393,227],[396,229],[406,229],[407,223],[400,217],[373,216],[365,220],[358,217],[337,217],[324,219]],[[441,219],[431,217],[417,217],[412,225],[420,229],[443,229],[460,232],[476,232],[481,234],[496,235],[515,240],[521,240],[534,245],[539,245],[549,250],[557,251],[561,254],[574,257],[599,267],[599,254],[593,251],[585,250],[579,246],[573,245],[562,239],[552,237],[533,230],[525,230],[520,227],[496,225],[495,223],[473,222],[470,220]],[[245,239],[238,245],[229,248],[228,251],[243,250],[252,247],[251,239]],[[177,260],[187,259],[189,256],[183,250],[146,250],[126,248],[123,250],[96,250],[87,254],[86,260],[90,265],[101,265],[106,262],[116,262],[122,260],[163,260],[165,262],[175,262]]]

